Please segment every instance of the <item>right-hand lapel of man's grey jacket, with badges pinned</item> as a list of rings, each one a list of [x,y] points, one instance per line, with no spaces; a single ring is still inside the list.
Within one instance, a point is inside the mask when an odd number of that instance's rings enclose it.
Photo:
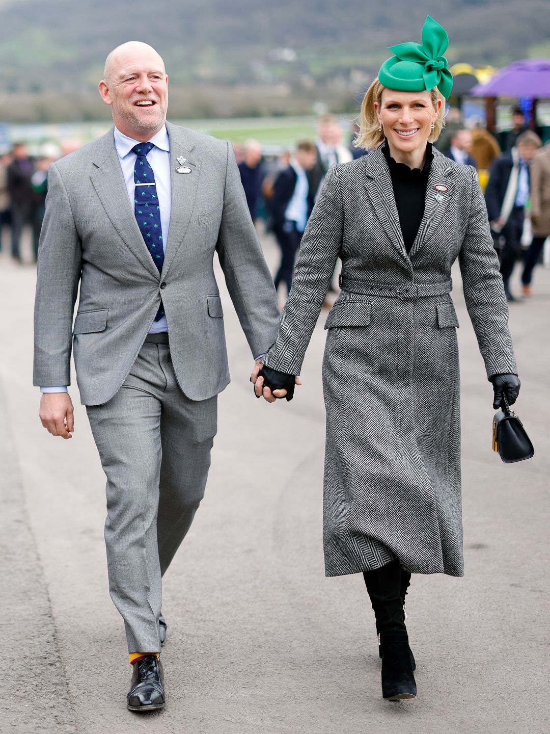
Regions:
[[[194,152],[194,143],[186,138],[183,128],[166,123],[170,139],[170,226],[168,241],[164,254],[162,277],[175,258],[177,250],[186,234],[191,214],[193,213],[195,197],[199,185],[200,159]],[[182,156],[186,159],[185,166],[191,168],[191,173],[177,173],[180,167],[177,159]]]

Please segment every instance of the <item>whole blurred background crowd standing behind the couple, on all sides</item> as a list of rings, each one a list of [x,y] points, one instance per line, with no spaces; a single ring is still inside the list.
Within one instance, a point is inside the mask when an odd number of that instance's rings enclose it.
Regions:
[[[523,112],[512,109],[512,128],[497,139],[484,127],[468,128],[458,109],[447,112],[436,148],[461,165],[474,166],[485,201],[507,298],[516,263],[522,261],[521,296],[532,292],[532,276],[550,236],[550,143],[527,126]],[[333,165],[368,155],[353,142],[358,129],[323,115],[315,137],[292,150],[266,153],[257,140],[234,143],[235,158],[249,206],[258,228],[272,233],[280,249],[275,286],[282,299],[290,291],[296,252],[326,172]],[[47,142],[29,155],[23,142],[0,150],[0,250],[23,262],[21,238],[28,231],[36,261],[45,212],[48,168],[52,161],[78,148],[76,140]],[[331,290],[334,288],[331,286]]]

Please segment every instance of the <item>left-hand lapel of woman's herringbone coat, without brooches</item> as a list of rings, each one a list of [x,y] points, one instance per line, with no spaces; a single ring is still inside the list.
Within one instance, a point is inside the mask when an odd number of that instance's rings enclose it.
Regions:
[[[371,150],[364,156],[366,181],[364,183],[370,202],[373,205],[375,217],[381,223],[382,228],[397,252],[410,266],[410,261],[403,242],[403,233],[395,206],[392,178],[389,175],[388,165],[381,147]]]

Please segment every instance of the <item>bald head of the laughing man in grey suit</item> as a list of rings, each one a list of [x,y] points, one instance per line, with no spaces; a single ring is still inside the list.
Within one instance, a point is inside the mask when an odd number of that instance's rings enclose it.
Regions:
[[[155,49],[141,41],[122,43],[107,57],[103,75],[99,93],[120,132],[142,142],[153,137],[168,107],[168,77]]]

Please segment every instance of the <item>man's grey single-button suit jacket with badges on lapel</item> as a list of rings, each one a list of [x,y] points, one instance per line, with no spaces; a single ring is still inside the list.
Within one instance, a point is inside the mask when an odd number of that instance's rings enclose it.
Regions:
[[[172,197],[161,275],[128,200],[112,129],[51,166],[34,304],[34,385],[70,385],[73,344],[82,403],[111,399],[162,297],[180,388],[192,400],[219,393],[230,375],[215,251],[252,354],[273,344],[276,293],[232,148],[188,128],[166,128]],[[190,174],[175,171],[179,156]]]

